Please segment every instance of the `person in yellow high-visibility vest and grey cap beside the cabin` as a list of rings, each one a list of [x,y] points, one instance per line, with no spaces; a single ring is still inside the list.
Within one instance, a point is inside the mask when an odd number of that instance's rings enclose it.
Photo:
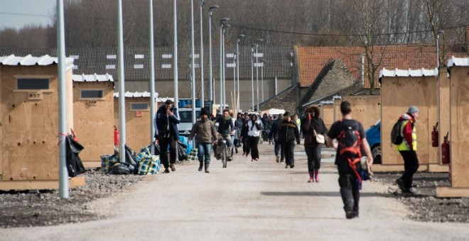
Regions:
[[[417,158],[417,133],[415,123],[419,117],[419,108],[410,106],[399,121],[401,122],[402,142],[396,146],[404,159],[404,173],[396,180],[397,186],[403,193],[411,193],[412,179],[419,169],[419,158]]]

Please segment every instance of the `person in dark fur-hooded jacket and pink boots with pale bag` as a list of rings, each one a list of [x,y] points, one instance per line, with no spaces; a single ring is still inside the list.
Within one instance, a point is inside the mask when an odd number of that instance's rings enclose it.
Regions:
[[[318,106],[310,106],[305,110],[305,117],[301,120],[301,132],[305,138],[305,152],[308,156],[308,182],[319,182],[320,152],[323,144],[316,142],[316,134],[325,135],[323,119],[319,118]],[[315,134],[316,133],[316,134]]]

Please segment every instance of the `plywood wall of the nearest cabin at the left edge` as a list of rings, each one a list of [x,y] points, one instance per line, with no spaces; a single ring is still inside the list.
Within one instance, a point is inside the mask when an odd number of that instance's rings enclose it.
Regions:
[[[71,77],[71,69],[66,77]],[[0,162],[3,180],[58,179],[58,78],[57,65],[3,66],[1,79]],[[14,91],[16,77],[50,78],[50,89],[42,99]],[[72,82],[72,79],[67,79]],[[69,88],[71,84],[66,84]],[[68,89],[67,93],[71,93]],[[72,109],[67,99],[67,109]],[[72,116],[68,113],[67,116]],[[68,120],[68,129],[72,120]]]

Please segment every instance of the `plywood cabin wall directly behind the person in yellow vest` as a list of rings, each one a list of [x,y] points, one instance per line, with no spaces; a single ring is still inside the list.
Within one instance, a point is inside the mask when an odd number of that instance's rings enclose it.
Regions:
[[[419,108],[416,122],[417,155],[420,164],[436,162],[437,149],[431,147],[431,126],[436,123],[435,77],[383,77],[382,104],[382,164],[403,164],[402,157],[390,140],[392,126],[411,105]]]

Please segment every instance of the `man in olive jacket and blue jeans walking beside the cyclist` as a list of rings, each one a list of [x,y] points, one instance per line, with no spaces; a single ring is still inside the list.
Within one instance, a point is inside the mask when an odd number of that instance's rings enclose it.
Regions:
[[[202,172],[202,168],[205,166],[205,172],[209,173],[208,166],[210,165],[210,152],[212,152],[212,142],[217,140],[217,130],[212,121],[208,119],[207,111],[205,108],[200,111],[200,120],[198,120],[190,130],[188,142],[195,136],[195,142],[197,142],[198,152],[197,157],[199,159],[199,172]],[[205,157],[205,165],[204,165]]]

